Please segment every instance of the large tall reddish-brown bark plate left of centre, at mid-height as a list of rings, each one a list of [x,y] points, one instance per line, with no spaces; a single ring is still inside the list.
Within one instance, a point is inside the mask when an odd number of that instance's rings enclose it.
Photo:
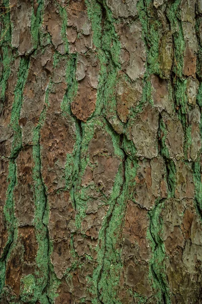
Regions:
[[[62,115],[47,114],[40,144],[42,177],[48,193],[65,187],[66,156],[72,153],[74,143],[74,123]]]

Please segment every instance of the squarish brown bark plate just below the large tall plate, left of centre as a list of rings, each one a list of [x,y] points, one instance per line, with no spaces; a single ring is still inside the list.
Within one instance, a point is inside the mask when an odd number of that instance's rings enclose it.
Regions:
[[[75,232],[75,210],[72,207],[70,194],[67,191],[48,195],[49,235],[51,239],[69,238]]]

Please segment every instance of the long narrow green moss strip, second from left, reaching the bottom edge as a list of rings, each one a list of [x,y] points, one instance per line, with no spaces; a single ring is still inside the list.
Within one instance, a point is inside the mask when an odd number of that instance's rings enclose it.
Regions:
[[[46,98],[48,90],[46,92]],[[33,131],[33,162],[32,178],[34,183],[34,226],[36,233],[36,240],[38,243],[38,251],[36,255],[36,289],[37,298],[40,298],[42,304],[46,304],[47,297],[43,294],[43,290],[48,283],[49,278],[49,239],[47,231],[48,222],[48,204],[46,198],[46,190],[41,176],[41,159],[40,159],[40,129],[45,120],[46,106],[44,106],[39,124]],[[43,298],[43,301],[42,301]]]

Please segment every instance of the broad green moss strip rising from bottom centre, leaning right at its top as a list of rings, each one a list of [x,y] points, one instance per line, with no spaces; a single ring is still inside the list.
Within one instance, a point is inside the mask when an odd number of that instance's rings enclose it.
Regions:
[[[124,156],[123,156],[124,157]],[[123,268],[119,249],[120,231],[122,230],[125,209],[131,197],[130,187],[134,183],[137,164],[129,158],[123,160],[116,175],[113,192],[109,200],[109,210],[102,224],[98,237],[100,249],[97,252],[98,266],[93,272],[91,292],[104,303],[121,303],[119,299],[120,272]],[[123,170],[125,176],[123,176]],[[98,298],[96,297],[98,294]]]

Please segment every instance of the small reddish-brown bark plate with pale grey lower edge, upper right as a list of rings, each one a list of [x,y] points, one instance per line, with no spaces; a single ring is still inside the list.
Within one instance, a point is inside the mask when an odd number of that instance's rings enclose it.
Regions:
[[[152,94],[154,105],[158,107],[160,112],[166,110],[171,113],[174,105],[171,102],[171,98],[169,98],[169,82],[153,74],[151,76],[151,84],[154,88]]]

